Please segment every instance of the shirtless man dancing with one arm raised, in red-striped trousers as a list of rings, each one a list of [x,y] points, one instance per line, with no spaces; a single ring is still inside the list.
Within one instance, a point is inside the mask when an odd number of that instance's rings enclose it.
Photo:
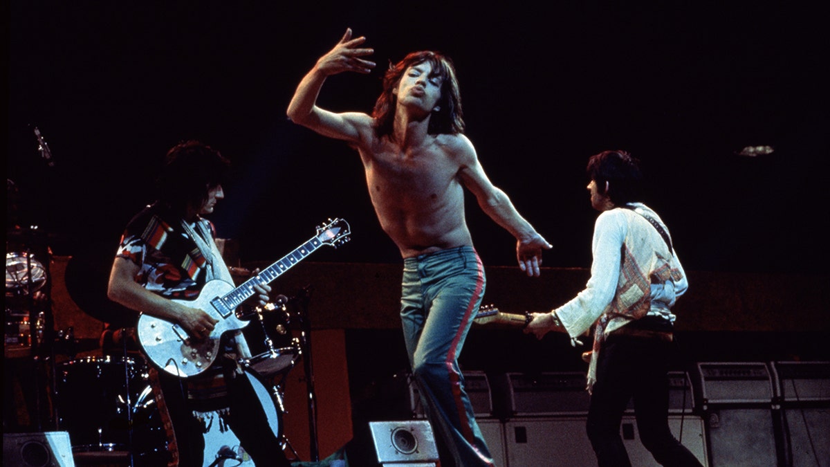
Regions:
[[[458,368],[485,290],[484,268],[464,214],[464,188],[516,239],[519,267],[540,274],[550,244],[487,178],[463,135],[461,97],[452,61],[412,52],[391,66],[371,116],[316,106],[327,76],[369,73],[374,51],[347,29],[297,86],[288,116],[321,135],[344,140],[363,161],[378,221],[403,256],[401,320],[409,362],[432,429],[452,459],[442,465],[493,465]]]

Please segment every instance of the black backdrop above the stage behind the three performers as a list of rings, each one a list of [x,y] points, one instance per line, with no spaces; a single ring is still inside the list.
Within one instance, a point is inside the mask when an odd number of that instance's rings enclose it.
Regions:
[[[152,201],[165,151],[198,138],[234,164],[212,220],[243,261],[274,261],[342,217],[353,241],[315,260],[398,262],[356,153],[285,116],[300,78],[352,27],[378,68],[330,78],[320,105],[370,111],[388,61],[446,52],[482,165],[554,243],[545,266],[588,267],[596,213],[584,165],[625,149],[643,161],[647,201],[687,270],[823,272],[830,125],[818,8],[573,3],[6,2],[19,222],[50,234],[56,254],[109,264],[121,229]],[[775,151],[737,155],[746,145]],[[514,240],[474,201],[481,258],[514,265]]]

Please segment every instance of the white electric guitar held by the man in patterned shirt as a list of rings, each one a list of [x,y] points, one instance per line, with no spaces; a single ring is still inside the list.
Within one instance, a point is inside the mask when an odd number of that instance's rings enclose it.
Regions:
[[[216,360],[222,334],[246,327],[250,322],[237,317],[236,309],[254,295],[254,285],[271,283],[321,245],[337,248],[349,241],[349,234],[346,221],[329,219],[329,224],[317,227],[314,237],[239,287],[234,288],[222,280],[212,280],[204,285],[195,300],[174,300],[203,310],[218,320],[210,336],[203,340],[191,339],[175,322],[142,313],[136,332],[144,354],[155,366],[173,376],[187,378],[202,373]]]

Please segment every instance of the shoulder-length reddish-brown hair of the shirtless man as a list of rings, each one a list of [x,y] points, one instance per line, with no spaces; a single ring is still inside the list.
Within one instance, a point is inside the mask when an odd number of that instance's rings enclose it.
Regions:
[[[374,104],[372,116],[375,121],[375,134],[378,136],[392,135],[397,97],[394,95],[395,86],[401,81],[403,72],[410,66],[429,62],[432,65],[431,76],[441,78],[441,97],[438,99],[438,111],[432,112],[427,133],[430,135],[457,134],[464,131],[464,119],[461,112],[461,92],[458,90],[456,69],[450,57],[441,52],[422,51],[411,52],[402,61],[395,65],[389,63],[389,69],[383,76],[383,92]]]

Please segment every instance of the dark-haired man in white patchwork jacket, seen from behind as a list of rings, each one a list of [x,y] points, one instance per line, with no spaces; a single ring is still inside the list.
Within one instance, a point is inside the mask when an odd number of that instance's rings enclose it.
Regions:
[[[591,278],[582,292],[551,312],[532,313],[525,332],[576,338],[595,327],[588,367],[587,433],[600,467],[631,465],[620,436],[633,401],[642,445],[660,465],[700,466],[668,425],[668,371],[676,358],[675,314],[686,273],[662,219],[642,204],[639,161],[622,150],[588,159],[594,224]]]

